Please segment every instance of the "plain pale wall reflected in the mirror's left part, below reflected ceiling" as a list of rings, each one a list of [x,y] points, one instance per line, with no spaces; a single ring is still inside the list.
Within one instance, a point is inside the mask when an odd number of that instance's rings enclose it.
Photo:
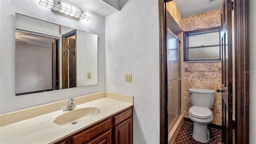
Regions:
[[[16,45],[16,94],[52,89],[52,48]]]

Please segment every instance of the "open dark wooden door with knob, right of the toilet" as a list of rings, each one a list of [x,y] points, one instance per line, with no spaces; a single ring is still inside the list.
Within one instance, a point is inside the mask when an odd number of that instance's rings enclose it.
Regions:
[[[222,143],[230,144],[232,137],[232,10],[233,2],[223,0],[221,9],[222,48]]]

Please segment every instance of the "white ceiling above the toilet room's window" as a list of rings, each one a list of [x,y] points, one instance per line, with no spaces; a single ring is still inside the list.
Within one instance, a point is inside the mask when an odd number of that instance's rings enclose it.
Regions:
[[[184,18],[221,8],[222,0],[174,0]]]

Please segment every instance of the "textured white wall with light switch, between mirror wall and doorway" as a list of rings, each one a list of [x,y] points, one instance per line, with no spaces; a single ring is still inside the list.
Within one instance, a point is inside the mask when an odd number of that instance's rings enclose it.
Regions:
[[[106,90],[134,96],[133,143],[159,144],[158,0],[121,0],[120,9],[106,17]]]

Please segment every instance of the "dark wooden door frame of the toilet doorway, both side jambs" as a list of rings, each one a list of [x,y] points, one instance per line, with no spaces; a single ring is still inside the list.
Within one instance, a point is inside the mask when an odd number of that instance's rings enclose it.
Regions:
[[[170,0],[169,0],[170,1]],[[234,0],[235,141],[249,143],[248,0]],[[160,144],[168,144],[166,0],[158,0],[160,62]]]

